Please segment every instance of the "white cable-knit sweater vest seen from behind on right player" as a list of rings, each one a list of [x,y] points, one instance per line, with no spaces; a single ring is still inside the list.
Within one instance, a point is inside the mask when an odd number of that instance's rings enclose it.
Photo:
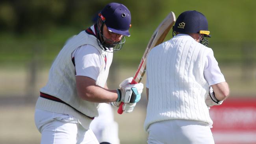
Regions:
[[[212,124],[205,98],[206,54],[211,50],[191,36],[179,34],[153,48],[147,58],[149,100],[144,129],[172,119]]]

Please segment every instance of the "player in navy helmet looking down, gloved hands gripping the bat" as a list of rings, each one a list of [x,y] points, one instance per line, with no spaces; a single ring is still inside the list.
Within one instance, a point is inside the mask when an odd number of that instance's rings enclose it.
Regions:
[[[89,129],[98,116],[100,103],[109,103],[126,113],[140,100],[143,84],[108,89],[106,81],[113,52],[130,36],[131,14],[126,6],[110,3],[98,14],[98,21],[69,39],[54,60],[45,87],[35,106],[35,124],[41,144],[98,144]]]

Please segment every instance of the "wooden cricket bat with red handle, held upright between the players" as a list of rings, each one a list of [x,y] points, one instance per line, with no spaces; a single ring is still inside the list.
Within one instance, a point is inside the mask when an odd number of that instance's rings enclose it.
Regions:
[[[156,28],[152,37],[150,38],[150,41],[148,42],[148,46],[146,47],[146,50],[143,54],[143,57],[141,59],[139,67],[137,68],[134,78],[132,79],[131,84],[136,84],[141,82],[141,79],[143,78],[146,72],[146,63],[147,63],[146,60],[147,60],[149,51],[164,41],[167,33],[171,30],[175,21],[176,21],[176,17],[174,13],[171,11],[171,13],[169,13],[169,15],[167,15],[167,17],[161,22],[158,28]],[[119,106],[119,109],[117,110],[119,114],[123,113],[123,110],[122,110],[123,104],[124,103],[122,102],[121,105]]]

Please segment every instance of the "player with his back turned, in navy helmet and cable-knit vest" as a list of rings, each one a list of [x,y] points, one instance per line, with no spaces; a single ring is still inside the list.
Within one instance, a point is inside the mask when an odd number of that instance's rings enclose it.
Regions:
[[[208,108],[220,105],[229,88],[212,49],[206,47],[210,37],[206,17],[185,11],[173,33],[147,58],[147,142],[214,144]]]

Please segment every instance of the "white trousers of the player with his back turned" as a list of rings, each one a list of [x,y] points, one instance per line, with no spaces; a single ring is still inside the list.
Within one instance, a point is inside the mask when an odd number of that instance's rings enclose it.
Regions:
[[[164,120],[148,127],[148,144],[214,144],[211,126],[195,120]]]

